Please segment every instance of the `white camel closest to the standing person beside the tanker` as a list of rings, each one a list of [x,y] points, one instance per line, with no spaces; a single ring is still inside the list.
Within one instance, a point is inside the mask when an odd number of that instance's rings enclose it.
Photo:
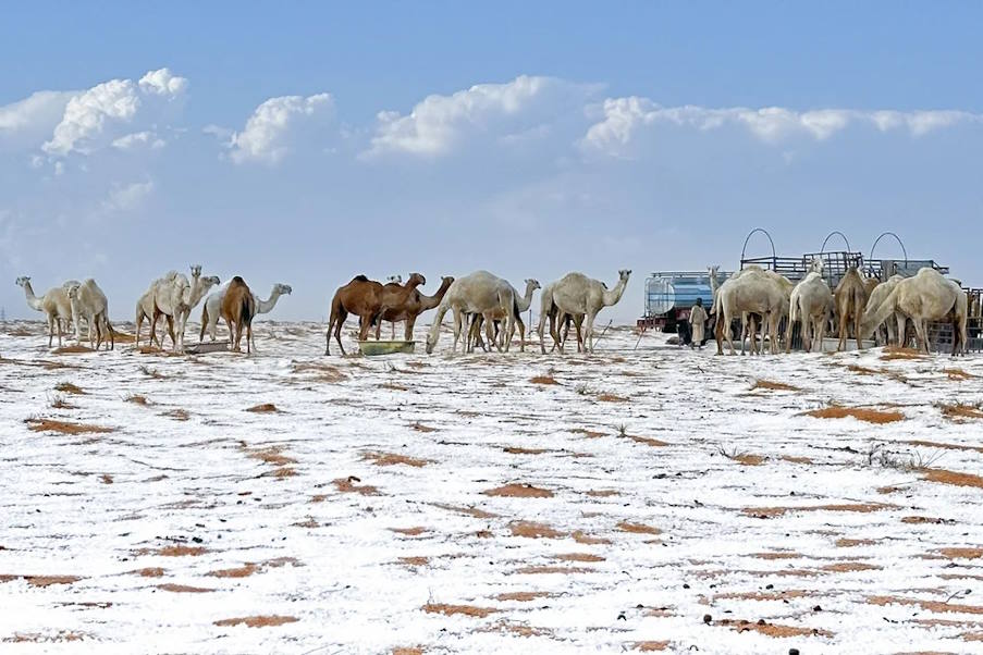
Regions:
[[[786,285],[776,280],[771,271],[765,271],[760,267],[751,265],[732,275],[717,289],[713,307],[717,317],[715,328],[717,355],[724,353],[723,336],[725,332],[730,355],[735,355],[734,342],[730,338],[730,323],[735,318],[741,318],[741,341],[744,341],[748,318],[752,313],[759,314],[762,323],[767,323],[771,349],[772,353],[777,353],[778,321],[788,308],[789,296],[790,292],[786,291]],[[757,338],[753,336],[752,330],[752,353],[757,353],[757,343],[754,342]]]

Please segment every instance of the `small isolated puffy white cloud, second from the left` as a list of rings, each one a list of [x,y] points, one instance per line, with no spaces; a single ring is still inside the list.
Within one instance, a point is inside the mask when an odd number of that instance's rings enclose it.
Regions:
[[[242,132],[232,135],[230,157],[235,163],[279,163],[290,151],[297,129],[305,123],[323,124],[333,116],[330,94],[270,98],[256,108]]]

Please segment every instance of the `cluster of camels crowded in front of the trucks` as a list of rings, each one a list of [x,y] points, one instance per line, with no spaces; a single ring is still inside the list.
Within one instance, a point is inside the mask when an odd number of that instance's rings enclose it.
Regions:
[[[874,332],[884,330],[884,343],[907,343],[907,323],[914,326],[919,349],[929,351],[929,323],[953,324],[953,356],[966,354],[967,296],[958,283],[945,279],[938,271],[923,268],[911,277],[895,275],[885,282],[864,277],[851,267],[831,289],[823,279],[823,263],[811,262],[806,277],[798,284],[757,265],[734,273],[717,286],[717,269],[710,268],[713,289],[712,316],[716,317],[714,334],[717,355],[723,355],[727,342],[730,355],[734,344],[728,326],[740,319],[741,346],[745,334],[750,336],[751,353],[758,353],[757,325],[766,332],[772,353],[778,351],[778,342],[785,338],[786,353],[791,347],[791,331],[802,324],[802,345],[811,351],[819,344],[822,350],[827,323],[835,319],[838,325],[837,350],[847,345],[852,333],[857,348]],[[785,334],[779,334],[784,322]],[[814,338],[813,338],[814,336]],[[763,346],[762,346],[763,348]]]

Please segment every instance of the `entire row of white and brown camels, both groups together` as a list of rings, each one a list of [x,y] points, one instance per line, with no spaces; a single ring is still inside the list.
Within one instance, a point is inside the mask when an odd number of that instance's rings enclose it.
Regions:
[[[437,313],[426,338],[427,353],[433,353],[440,337],[445,314],[453,313],[454,343],[452,351],[462,342],[462,351],[474,351],[478,346],[488,350],[509,349],[516,329],[519,346],[525,350],[526,325],[521,313],[532,304],[536,291],[540,295],[540,318],[538,334],[540,349],[545,353],[543,334],[546,322],[553,339],[553,349],[562,353],[570,326],[576,328],[577,349],[592,353],[594,348],[594,321],[598,312],[620,300],[628,284],[629,270],[618,271],[618,280],[613,288],[582,273],[567,273],[560,280],[541,287],[536,280],[526,280],[524,294],[519,294],[508,281],[488,271],[476,271],[469,275],[441,279],[440,287],[432,296],[420,292],[427,284],[426,277],[413,273],[403,283],[394,280],[386,284],[357,275],[340,287],[331,299],[324,354],[331,353],[334,336],[342,355],[342,326],[349,314],[359,319],[358,339],[369,337],[376,328],[374,337],[380,338],[382,323],[405,323],[405,339],[413,341],[417,318],[425,311],[435,309]],[[839,345],[846,347],[852,334],[857,347],[874,332],[883,334],[882,342],[888,344],[907,343],[908,321],[914,326],[918,347],[929,350],[929,323],[951,322],[954,330],[953,355],[966,353],[967,341],[967,296],[960,286],[946,280],[936,270],[921,269],[912,277],[894,277],[880,282],[864,277],[856,268],[850,268],[835,289],[831,289],[823,277],[823,263],[811,262],[806,277],[798,284],[778,273],[760,267],[748,267],[734,273],[723,284],[717,283],[717,267],[710,269],[713,291],[717,355],[723,354],[726,341],[732,355],[735,354],[729,326],[740,321],[741,349],[745,335],[750,336],[751,353],[758,353],[758,326],[767,334],[770,350],[778,353],[778,344],[785,339],[786,353],[791,347],[791,332],[796,323],[802,325],[802,343],[806,350],[822,350],[823,336],[828,324],[838,326]],[[70,324],[74,325],[75,339],[82,342],[82,323],[87,324],[89,345],[96,349],[102,343],[107,348],[114,346],[114,332],[109,322],[109,304],[106,294],[95,280],[84,282],[66,281],[61,286],[37,296],[29,277],[19,277],[17,285],[24,288],[27,305],[46,314],[48,321],[48,346],[58,335],[59,346],[62,335]],[[210,292],[210,293],[209,293]],[[144,320],[149,322],[150,346],[163,347],[163,337],[157,337],[158,321],[167,322],[167,333],[175,351],[184,350],[184,332],[192,310],[201,300],[199,339],[206,333],[211,341],[217,337],[219,319],[229,328],[230,339],[235,350],[241,349],[243,335],[246,351],[255,350],[253,319],[257,314],[272,311],[281,296],[290,295],[290,285],[274,284],[268,299],[258,298],[246,282],[235,276],[221,284],[217,276],[202,276],[201,267],[191,267],[191,279],[183,273],[170,271],[155,280],[136,305],[136,345],[139,346]],[[784,326],[784,334],[782,329]],[[482,328],[484,339],[481,337]]]

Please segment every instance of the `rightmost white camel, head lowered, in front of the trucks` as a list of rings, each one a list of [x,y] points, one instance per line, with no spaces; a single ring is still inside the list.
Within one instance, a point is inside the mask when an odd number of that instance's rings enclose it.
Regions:
[[[929,353],[929,322],[953,321],[953,357],[966,354],[968,300],[962,288],[935,269],[923,268],[913,277],[899,281],[880,307],[869,306],[858,330],[858,338],[869,337],[894,312],[914,323],[918,347]]]

